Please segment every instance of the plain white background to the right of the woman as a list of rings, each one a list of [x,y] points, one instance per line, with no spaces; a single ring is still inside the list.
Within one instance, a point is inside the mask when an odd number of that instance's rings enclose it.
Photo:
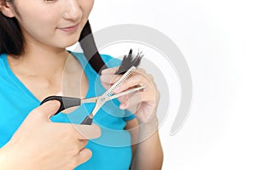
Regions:
[[[170,37],[188,62],[193,104],[176,135],[169,135],[172,114],[160,128],[163,169],[256,169],[255,16],[253,0],[96,0],[93,31],[150,26]]]

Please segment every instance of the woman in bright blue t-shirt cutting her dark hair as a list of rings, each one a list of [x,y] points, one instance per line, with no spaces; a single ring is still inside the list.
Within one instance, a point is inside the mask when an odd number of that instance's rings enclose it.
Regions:
[[[9,166],[17,166],[22,162],[19,169],[160,169],[163,154],[155,113],[159,93],[152,77],[143,69],[137,69],[115,92],[137,85],[147,87],[136,96],[113,102],[117,105],[120,102],[118,110],[111,104],[109,108],[119,116],[103,109],[97,113],[94,120],[101,127],[102,136],[96,140],[88,141],[98,137],[96,125],[74,125],[79,130],[74,133],[67,123],[73,122],[72,116],[58,114],[50,122],[49,116],[59,106],[55,101],[32,111],[49,95],[61,92],[65,96],[93,97],[98,95],[96,90],[101,93],[119,78],[114,74],[116,67],[102,71],[102,76],[97,77],[96,71],[83,60],[83,54],[66,50],[79,40],[93,0],[0,2],[0,133],[3,136],[0,163],[13,160]],[[108,55],[102,55],[102,59],[109,67],[119,65],[119,61]],[[135,100],[137,96],[139,102]],[[132,113],[136,117],[127,116],[129,111],[125,109],[131,105],[135,105]],[[85,105],[87,114],[92,107]],[[120,133],[113,134],[116,131]],[[84,149],[85,145],[88,149]],[[14,148],[16,154],[11,154]]]

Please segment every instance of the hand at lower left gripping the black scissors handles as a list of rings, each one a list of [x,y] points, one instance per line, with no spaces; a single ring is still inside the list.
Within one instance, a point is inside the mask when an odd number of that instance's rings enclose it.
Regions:
[[[1,169],[73,169],[90,159],[92,153],[84,146],[101,135],[100,127],[50,122],[59,107],[53,100],[30,112],[0,149]]]

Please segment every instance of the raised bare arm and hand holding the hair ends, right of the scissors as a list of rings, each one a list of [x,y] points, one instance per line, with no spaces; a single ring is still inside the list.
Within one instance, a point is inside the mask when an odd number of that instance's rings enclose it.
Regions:
[[[102,85],[105,88],[111,86],[119,79],[115,75],[117,68],[109,68],[102,71]],[[163,162],[163,151],[158,133],[158,119],[156,111],[160,100],[160,92],[154,83],[154,79],[146,71],[137,68],[123,84],[115,90],[119,94],[127,89],[144,86],[142,91],[119,98],[120,109],[131,111],[137,119],[126,124],[132,139],[132,163],[131,169],[160,169]]]

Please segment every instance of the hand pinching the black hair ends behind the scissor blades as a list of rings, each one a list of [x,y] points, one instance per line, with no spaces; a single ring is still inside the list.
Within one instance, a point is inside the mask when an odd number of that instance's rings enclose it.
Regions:
[[[114,74],[117,69],[118,67],[114,67],[102,71],[101,81],[104,88],[110,88],[122,76]],[[119,94],[129,88],[140,86],[145,86],[146,88],[137,93],[119,97],[121,102],[119,108],[131,111],[137,116],[139,123],[158,122],[156,110],[160,100],[160,93],[156,88],[153,77],[143,69],[137,68],[133,71],[131,76],[114,93]]]

